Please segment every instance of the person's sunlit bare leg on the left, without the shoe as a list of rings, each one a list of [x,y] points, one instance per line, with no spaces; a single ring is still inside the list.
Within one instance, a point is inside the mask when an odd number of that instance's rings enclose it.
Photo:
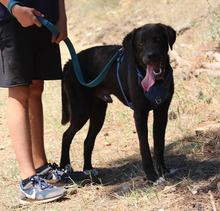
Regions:
[[[29,121],[29,86],[9,88],[8,126],[22,179],[36,174]]]

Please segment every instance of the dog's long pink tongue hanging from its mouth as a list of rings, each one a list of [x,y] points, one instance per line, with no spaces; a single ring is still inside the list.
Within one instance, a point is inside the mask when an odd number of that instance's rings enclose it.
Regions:
[[[144,77],[144,79],[141,82],[142,87],[147,92],[149,91],[151,86],[153,86],[155,83],[155,77],[154,77],[153,71],[154,71],[154,69],[156,69],[156,66],[157,65],[147,65],[146,76]]]

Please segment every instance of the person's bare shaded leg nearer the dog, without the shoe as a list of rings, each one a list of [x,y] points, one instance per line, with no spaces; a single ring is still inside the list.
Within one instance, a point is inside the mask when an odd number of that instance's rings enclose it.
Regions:
[[[43,88],[43,80],[34,80],[33,84],[30,86],[29,119],[31,128],[32,155],[35,169],[45,165],[47,162],[43,135]]]

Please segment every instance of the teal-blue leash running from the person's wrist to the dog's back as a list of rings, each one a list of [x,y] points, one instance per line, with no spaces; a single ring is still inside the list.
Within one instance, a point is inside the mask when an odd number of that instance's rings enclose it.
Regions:
[[[11,13],[12,16],[13,16],[13,14],[12,14],[11,9],[12,9],[13,5],[15,5],[15,4],[19,4],[19,5],[22,6],[22,3],[20,1],[10,1],[8,3],[8,11]],[[59,35],[60,32],[54,24],[52,24],[51,22],[49,22],[45,18],[37,17],[37,19],[39,20],[39,22],[42,25],[44,25],[47,29],[49,29],[51,31],[51,33],[54,34],[55,37],[57,37]],[[78,81],[82,85],[87,86],[87,87],[95,87],[98,84],[100,84],[103,81],[103,79],[106,77],[106,75],[108,74],[108,71],[110,70],[110,67],[111,67],[112,63],[115,61],[115,59],[121,53],[121,50],[118,50],[115,53],[115,55],[110,59],[110,61],[107,63],[107,65],[104,67],[102,72],[97,76],[97,78],[95,78],[93,81],[91,81],[89,83],[86,83],[85,80],[84,80],[84,77],[82,75],[82,71],[81,71],[81,68],[80,68],[80,65],[79,65],[79,61],[78,61],[78,58],[77,58],[77,55],[76,55],[76,51],[75,51],[70,39],[66,38],[64,40],[64,42],[66,43],[66,46],[69,49],[69,52],[70,52],[70,55],[71,55],[71,58],[72,58],[72,63],[73,63],[75,73],[76,73],[76,77],[77,77]]]

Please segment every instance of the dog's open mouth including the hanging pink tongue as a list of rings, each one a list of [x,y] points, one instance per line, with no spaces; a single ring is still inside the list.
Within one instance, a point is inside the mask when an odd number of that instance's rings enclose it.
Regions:
[[[141,85],[144,88],[144,90],[148,92],[150,87],[154,85],[155,81],[163,77],[163,70],[164,66],[162,62],[147,65],[146,76],[141,82]]]

